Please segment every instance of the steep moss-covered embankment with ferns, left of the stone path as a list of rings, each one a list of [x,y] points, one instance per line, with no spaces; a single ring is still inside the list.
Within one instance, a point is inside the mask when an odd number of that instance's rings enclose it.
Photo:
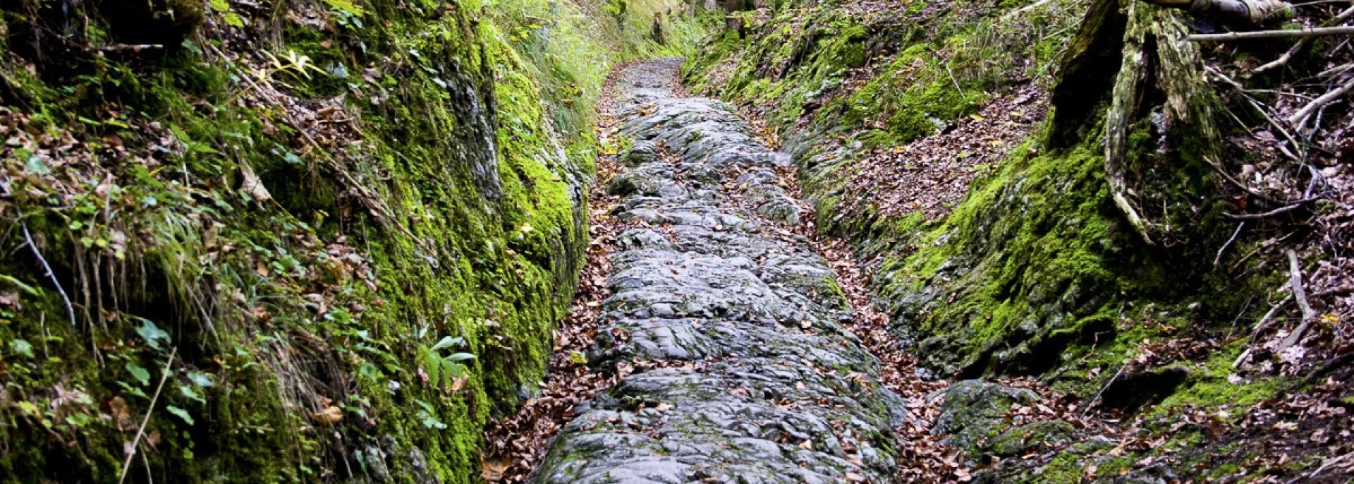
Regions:
[[[608,65],[699,28],[131,4],[0,11],[0,480],[477,481],[573,293]]]

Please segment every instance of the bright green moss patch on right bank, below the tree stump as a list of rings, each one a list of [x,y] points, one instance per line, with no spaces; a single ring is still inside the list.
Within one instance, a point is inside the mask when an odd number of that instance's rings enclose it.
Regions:
[[[964,202],[918,243],[919,249],[898,266],[907,274],[898,282],[904,287],[892,291],[953,287],[944,306],[907,309],[917,312],[919,328],[955,332],[948,339],[963,342],[955,348],[963,366],[1018,365],[1018,354],[1030,344],[1074,336],[1059,332],[1066,328],[1051,319],[1060,316],[1045,304],[1071,306],[1082,291],[1124,283],[1104,260],[1113,235],[1097,191],[1104,186],[1094,146],[1043,156],[1020,149],[991,179],[975,182]],[[1001,206],[1028,216],[994,217],[1003,210],[991,209]],[[1094,321],[1068,327],[1075,332]],[[1002,354],[1002,363],[982,361],[1009,350],[1006,335],[1017,327],[1028,327],[1022,332],[1032,336],[1024,348]]]

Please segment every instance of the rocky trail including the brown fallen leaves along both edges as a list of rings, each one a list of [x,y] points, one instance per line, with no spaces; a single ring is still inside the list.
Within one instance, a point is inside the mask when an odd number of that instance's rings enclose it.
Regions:
[[[603,137],[628,146],[601,167],[580,301],[544,393],[489,431],[486,477],[965,477],[925,435],[945,384],[915,377],[849,251],[815,235],[789,159],[682,96],[678,65],[617,69]]]

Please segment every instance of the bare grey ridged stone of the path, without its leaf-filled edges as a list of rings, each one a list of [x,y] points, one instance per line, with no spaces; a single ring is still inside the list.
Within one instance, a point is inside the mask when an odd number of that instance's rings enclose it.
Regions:
[[[884,483],[907,414],[846,331],[850,308],[777,186],[789,163],[673,61],[616,87],[632,146],[593,365],[646,361],[578,408],[535,483]],[[738,194],[724,190],[738,174]]]

